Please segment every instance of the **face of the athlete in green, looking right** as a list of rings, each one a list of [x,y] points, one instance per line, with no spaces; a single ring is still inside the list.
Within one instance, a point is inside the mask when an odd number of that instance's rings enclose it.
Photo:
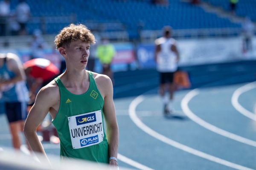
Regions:
[[[73,65],[76,68],[85,68],[90,55],[90,44],[81,40],[73,41],[63,49],[63,57],[66,59],[67,66]]]

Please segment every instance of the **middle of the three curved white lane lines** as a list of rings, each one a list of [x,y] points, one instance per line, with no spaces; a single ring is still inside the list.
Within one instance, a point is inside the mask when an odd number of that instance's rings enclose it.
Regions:
[[[181,100],[181,108],[183,110],[183,112],[190,118],[192,119],[194,122],[196,122],[198,125],[201,125],[205,128],[207,128],[208,130],[211,130],[212,132],[218,133],[219,135],[225,136],[227,138],[236,140],[238,142],[244,143],[244,144],[249,144],[251,146],[256,147],[256,141],[238,136],[234,133],[230,133],[226,130],[220,129],[214,125],[209,124],[208,122],[205,122],[203,119],[199,118],[198,116],[196,116],[192,111],[190,111],[188,103],[189,101],[198,94],[198,90],[192,90],[190,91],[188,94],[186,94],[186,96]]]

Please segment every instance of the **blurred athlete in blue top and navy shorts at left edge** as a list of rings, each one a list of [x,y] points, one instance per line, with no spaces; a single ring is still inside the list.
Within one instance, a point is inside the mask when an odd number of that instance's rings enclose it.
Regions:
[[[0,54],[0,100],[5,102],[12,145],[17,150],[21,146],[20,131],[23,131],[29,100],[25,79],[19,57],[12,53]]]

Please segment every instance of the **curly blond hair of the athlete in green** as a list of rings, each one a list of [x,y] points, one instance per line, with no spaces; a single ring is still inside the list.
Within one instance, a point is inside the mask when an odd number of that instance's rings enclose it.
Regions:
[[[95,44],[95,37],[91,31],[83,24],[70,24],[63,28],[58,35],[56,35],[54,43],[56,48],[68,47],[72,41],[81,40],[90,44]]]

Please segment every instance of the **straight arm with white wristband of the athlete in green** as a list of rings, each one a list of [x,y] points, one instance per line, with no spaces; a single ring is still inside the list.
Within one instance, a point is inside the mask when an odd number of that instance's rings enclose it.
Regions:
[[[103,113],[105,116],[107,124],[107,138],[109,144],[109,156],[116,157],[118,153],[118,143],[119,143],[119,129],[116,121],[116,112],[113,102],[113,85],[111,79],[107,76],[101,77],[101,91],[104,98]],[[117,162],[113,159],[110,160],[110,164],[117,166]]]

